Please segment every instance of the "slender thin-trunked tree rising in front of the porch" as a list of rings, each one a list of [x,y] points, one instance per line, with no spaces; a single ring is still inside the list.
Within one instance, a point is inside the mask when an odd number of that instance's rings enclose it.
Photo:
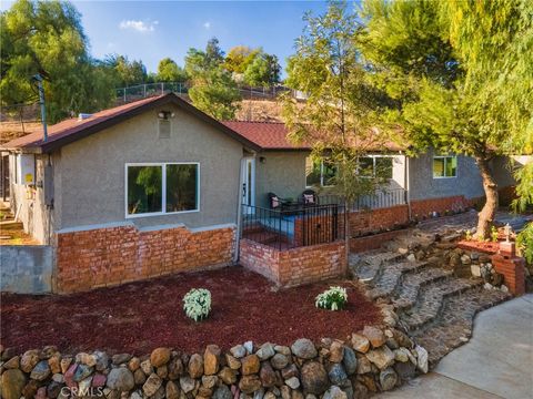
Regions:
[[[359,62],[358,16],[346,3],[332,2],[325,14],[306,14],[304,20],[295,54],[288,60],[285,84],[304,92],[306,101],[288,95],[283,117],[292,140],[310,143],[313,157],[334,165],[332,183],[346,205],[349,239],[350,205],[378,183],[356,171],[362,156],[381,147],[378,116],[386,96],[369,84]]]

